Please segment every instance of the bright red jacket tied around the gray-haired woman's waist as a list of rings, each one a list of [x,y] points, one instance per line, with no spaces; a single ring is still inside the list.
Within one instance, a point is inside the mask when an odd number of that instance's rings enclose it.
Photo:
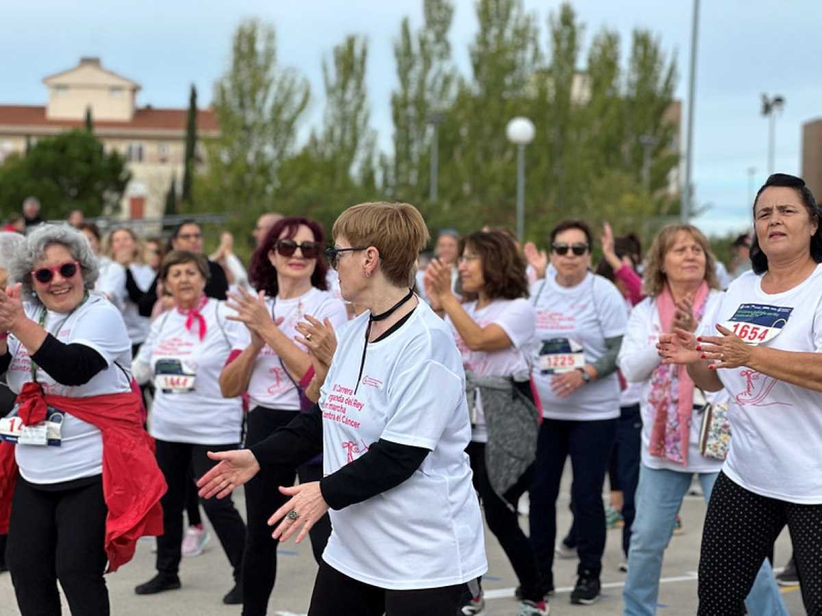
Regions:
[[[163,534],[159,499],[166,485],[154,457],[154,441],[143,430],[141,401],[135,393],[66,398],[44,394],[39,384],[26,383],[17,402],[25,425],[43,421],[48,404],[95,425],[103,434],[103,496],[109,508],[105,522],[107,572],[117,571],[132,559],[141,536]],[[8,531],[12,510],[17,479],[14,447],[0,443],[0,533]]]

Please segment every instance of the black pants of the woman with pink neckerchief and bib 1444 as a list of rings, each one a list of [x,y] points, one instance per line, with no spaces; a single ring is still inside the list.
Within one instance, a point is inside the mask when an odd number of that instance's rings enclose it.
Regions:
[[[192,482],[189,468],[195,478],[205,475],[215,462],[206,456],[209,451],[228,451],[237,445],[195,445],[171,443],[157,439],[157,463],[163,471],[169,490],[163,496],[164,534],[157,537],[157,571],[176,574],[180,568],[182,544],[182,508],[186,491]],[[234,507],[231,496],[224,499],[200,499],[205,515],[214,526],[225,555],[239,581],[242,569],[242,548],[246,542],[246,525]]]

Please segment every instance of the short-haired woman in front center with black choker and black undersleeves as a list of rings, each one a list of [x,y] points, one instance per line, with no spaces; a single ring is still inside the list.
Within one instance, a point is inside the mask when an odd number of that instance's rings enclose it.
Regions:
[[[446,324],[409,291],[428,233],[413,205],[346,209],[326,251],[346,301],[366,311],[339,330],[330,367],[303,329],[318,399],[285,428],[240,452],[215,453],[201,494],[229,494],[261,466],[322,451],[325,476],[280,487],[292,498],[269,523],[302,540],[329,511],[331,536],[311,616],[453,616],[465,582],[487,569],[471,485],[462,361]],[[326,329],[326,328],[324,328]]]

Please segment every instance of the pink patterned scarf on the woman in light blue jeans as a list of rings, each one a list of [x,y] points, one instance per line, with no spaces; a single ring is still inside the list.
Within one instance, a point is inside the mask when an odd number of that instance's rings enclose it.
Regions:
[[[702,319],[709,291],[708,284],[704,281],[696,290],[694,318],[697,322]],[[657,310],[662,331],[670,331],[677,307],[674,306],[671,289],[667,284],[657,297]],[[686,366],[660,364],[653,370],[649,402],[655,411],[649,453],[686,467],[690,444],[690,416],[694,411],[694,381],[688,376]]]

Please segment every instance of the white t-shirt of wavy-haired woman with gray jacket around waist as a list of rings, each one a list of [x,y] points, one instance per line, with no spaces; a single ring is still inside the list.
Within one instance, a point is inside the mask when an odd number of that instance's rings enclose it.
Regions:
[[[500,351],[472,351],[459,336],[451,319],[446,317],[446,322],[454,332],[465,369],[471,370],[477,376],[513,376],[517,381],[528,380],[528,349],[533,343],[535,319],[533,307],[528,300],[494,300],[480,309],[477,308],[476,301],[469,301],[463,304],[463,308],[482,328],[491,324],[499,325],[513,345]],[[475,417],[471,440],[487,443],[488,430],[485,426],[483,400],[479,393],[474,404]]]

